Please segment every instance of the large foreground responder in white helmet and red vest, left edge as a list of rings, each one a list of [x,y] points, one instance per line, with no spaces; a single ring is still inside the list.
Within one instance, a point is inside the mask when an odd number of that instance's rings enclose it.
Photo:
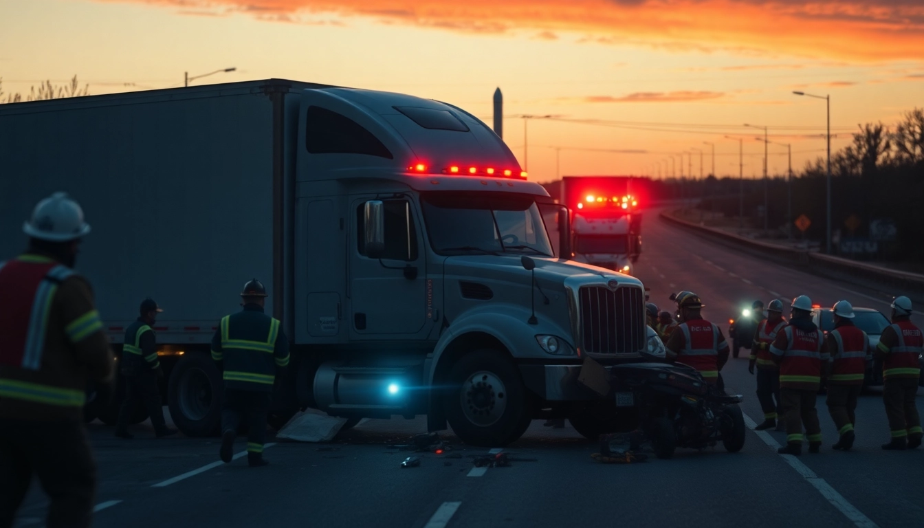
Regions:
[[[28,251],[0,263],[0,527],[13,525],[33,474],[49,528],[90,526],[96,463],[83,404],[115,363],[90,284],[71,269],[90,226],[56,192],[23,230]]]

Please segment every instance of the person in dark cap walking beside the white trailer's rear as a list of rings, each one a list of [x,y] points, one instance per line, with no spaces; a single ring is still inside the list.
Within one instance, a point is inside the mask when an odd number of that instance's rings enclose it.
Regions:
[[[157,380],[164,377],[164,369],[157,359],[157,338],[151,325],[157,314],[162,312],[152,299],[141,301],[138,320],[128,325],[125,331],[120,369],[125,376],[125,400],[118,411],[116,436],[119,438],[134,437],[128,433],[128,420],[139,403],[144,405],[151,417],[155,436],[176,435],[176,429],[168,428],[164,421],[164,404],[157,387]]]

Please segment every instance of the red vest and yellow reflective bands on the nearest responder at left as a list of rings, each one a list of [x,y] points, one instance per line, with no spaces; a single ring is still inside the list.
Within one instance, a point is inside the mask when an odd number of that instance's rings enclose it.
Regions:
[[[0,399],[54,407],[82,407],[84,388],[43,370],[48,316],[58,285],[74,272],[38,255],[21,255],[0,263]],[[77,342],[103,327],[99,313],[86,313],[62,331]]]

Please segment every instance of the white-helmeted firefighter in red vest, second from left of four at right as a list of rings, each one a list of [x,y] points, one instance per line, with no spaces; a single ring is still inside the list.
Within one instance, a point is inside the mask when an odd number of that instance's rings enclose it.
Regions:
[[[789,324],[773,339],[770,346],[773,362],[780,365],[780,396],[786,424],[786,446],[781,454],[802,454],[802,425],[808,435],[808,452],[821,450],[821,425],[815,409],[822,365],[828,362],[823,350],[821,330],[811,320],[811,300],[800,295],[790,305]]]

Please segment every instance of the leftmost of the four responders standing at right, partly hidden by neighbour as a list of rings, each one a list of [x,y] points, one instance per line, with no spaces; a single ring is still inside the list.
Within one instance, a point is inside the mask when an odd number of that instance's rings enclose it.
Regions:
[[[778,299],[770,301],[767,306],[767,318],[757,325],[748,362],[750,374],[754,374],[754,367],[757,366],[757,399],[760,401],[760,410],[763,411],[763,423],[755,427],[758,431],[783,424],[779,416],[780,367],[773,362],[770,345],[785,325],[783,303]],[[780,420],[779,424],[777,420]]]

